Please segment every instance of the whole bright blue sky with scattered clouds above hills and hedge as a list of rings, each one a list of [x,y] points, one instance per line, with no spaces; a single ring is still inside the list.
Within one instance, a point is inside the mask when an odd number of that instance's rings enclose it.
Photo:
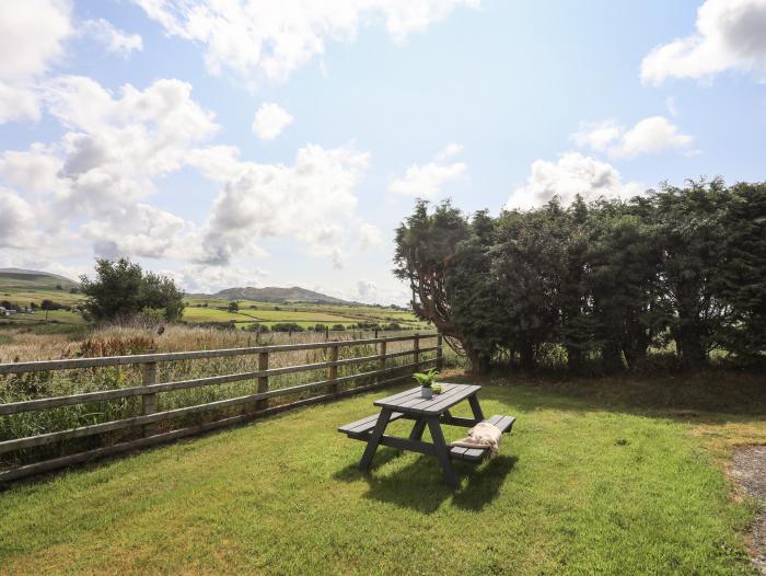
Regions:
[[[467,214],[763,181],[766,0],[24,0],[0,13],[0,267],[405,303]]]

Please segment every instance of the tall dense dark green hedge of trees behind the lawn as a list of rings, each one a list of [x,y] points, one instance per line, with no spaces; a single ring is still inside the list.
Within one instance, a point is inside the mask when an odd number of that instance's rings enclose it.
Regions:
[[[652,346],[686,367],[713,349],[764,359],[766,183],[688,182],[497,218],[418,201],[394,261],[418,316],[477,371],[556,350],[572,370],[637,369]]]

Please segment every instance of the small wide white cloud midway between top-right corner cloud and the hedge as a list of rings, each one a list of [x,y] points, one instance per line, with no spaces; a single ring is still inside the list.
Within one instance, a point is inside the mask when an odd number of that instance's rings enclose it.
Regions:
[[[570,140],[581,148],[607,152],[612,158],[634,158],[688,147],[694,137],[678,133],[664,116],[650,116],[626,129],[614,122],[583,123]]]

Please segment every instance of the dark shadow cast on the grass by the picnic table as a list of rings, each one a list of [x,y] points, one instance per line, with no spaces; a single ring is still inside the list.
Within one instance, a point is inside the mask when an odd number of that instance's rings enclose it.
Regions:
[[[480,510],[497,498],[506,476],[519,460],[514,456],[499,456],[479,465],[453,462],[462,484],[460,489],[453,491],[444,485],[437,459],[429,456],[421,456],[391,474],[379,473],[382,466],[398,457],[398,450],[380,448],[370,473],[361,472],[355,462],[339,470],[334,477],[344,482],[364,480],[370,488],[365,498],[422,514],[434,512],[450,497],[457,508]]]

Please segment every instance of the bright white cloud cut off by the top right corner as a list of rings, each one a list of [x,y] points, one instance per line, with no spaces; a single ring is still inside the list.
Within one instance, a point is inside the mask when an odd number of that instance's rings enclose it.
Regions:
[[[696,34],[658,46],[643,58],[643,82],[766,71],[766,0],[707,0],[696,25]]]

